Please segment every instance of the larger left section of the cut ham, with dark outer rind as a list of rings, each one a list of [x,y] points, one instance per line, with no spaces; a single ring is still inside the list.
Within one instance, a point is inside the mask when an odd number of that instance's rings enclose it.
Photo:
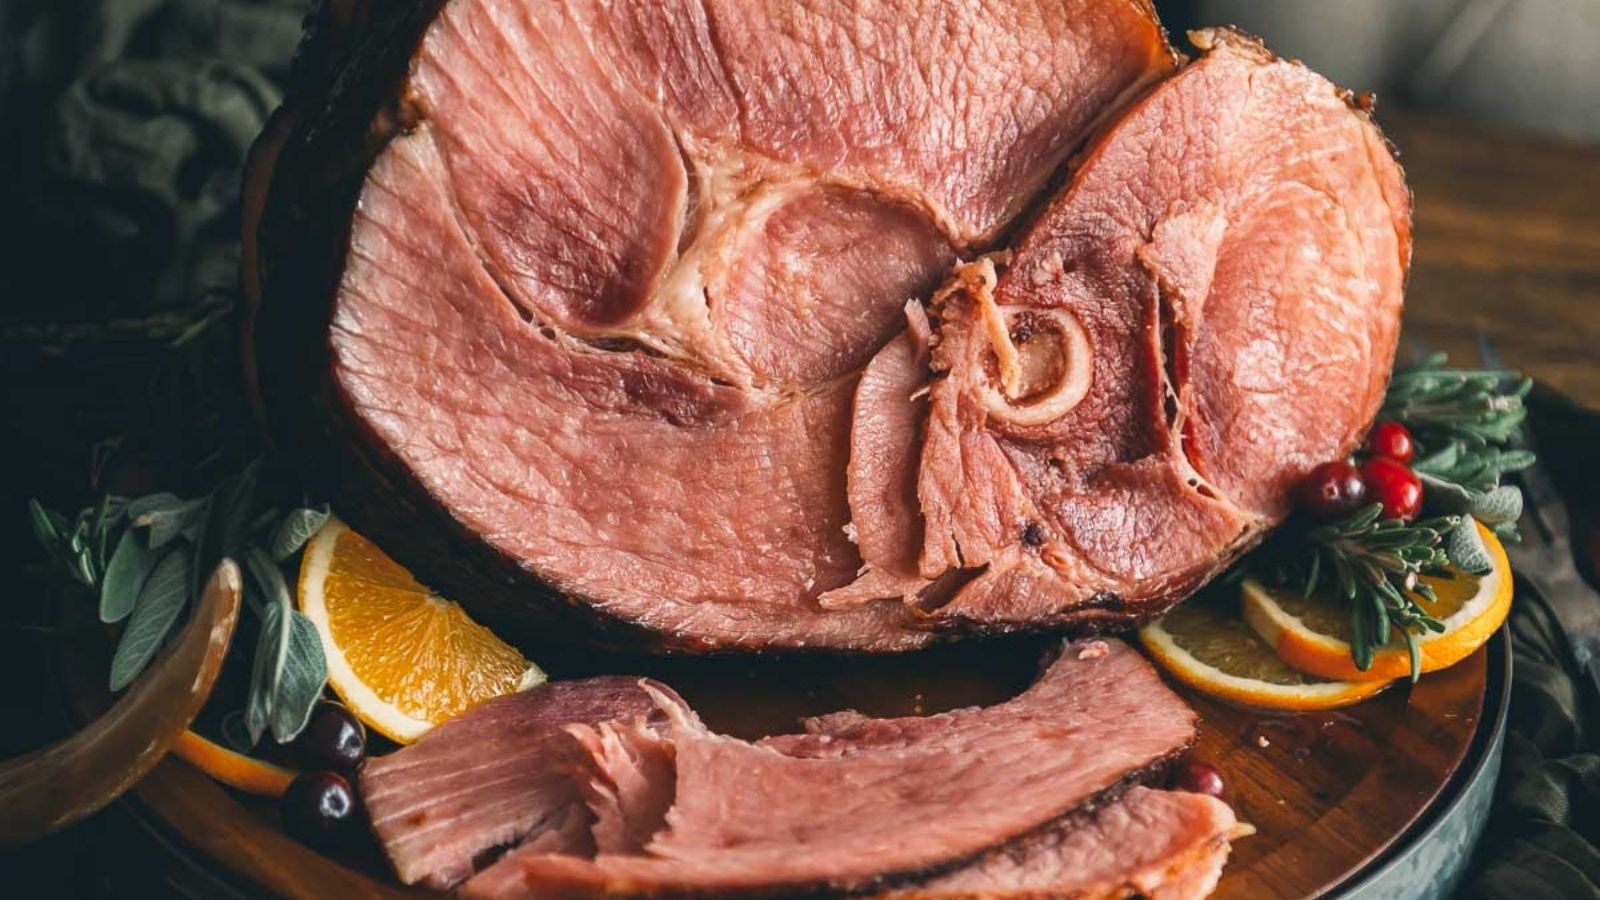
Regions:
[[[266,408],[341,516],[507,633],[933,641],[898,601],[819,604],[864,564],[858,376],[1171,70],[1149,5],[368,13],[259,255]]]

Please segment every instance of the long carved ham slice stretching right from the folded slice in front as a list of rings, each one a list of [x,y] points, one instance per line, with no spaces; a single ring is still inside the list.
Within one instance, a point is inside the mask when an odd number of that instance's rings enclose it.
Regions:
[[[616,761],[659,759],[661,740],[670,741],[672,802],[648,842],[592,858],[517,849],[462,894],[864,889],[963,863],[1114,798],[1195,733],[1194,713],[1120,642],[1062,647],[1027,692],[995,706],[912,719],[829,716],[805,733],[757,743],[709,732],[675,698],[661,695],[659,706],[670,721],[659,733],[574,729],[589,746],[611,745],[597,757],[602,793],[645,798],[606,799],[608,809],[659,809],[662,786],[638,778],[645,767]],[[616,770],[624,777],[611,780]],[[630,818],[632,833],[640,825]]]

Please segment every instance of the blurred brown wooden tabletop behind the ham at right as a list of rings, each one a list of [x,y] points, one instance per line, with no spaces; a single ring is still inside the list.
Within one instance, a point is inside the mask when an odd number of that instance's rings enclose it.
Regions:
[[[1600,147],[1384,120],[1416,194],[1408,349],[1507,365],[1600,408]]]

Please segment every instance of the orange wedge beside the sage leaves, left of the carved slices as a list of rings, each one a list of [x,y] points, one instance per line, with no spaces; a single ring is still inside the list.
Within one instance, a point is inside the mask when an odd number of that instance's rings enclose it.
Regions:
[[[322,633],[334,693],[402,743],[544,681],[515,647],[333,517],[306,544],[299,609]]]

